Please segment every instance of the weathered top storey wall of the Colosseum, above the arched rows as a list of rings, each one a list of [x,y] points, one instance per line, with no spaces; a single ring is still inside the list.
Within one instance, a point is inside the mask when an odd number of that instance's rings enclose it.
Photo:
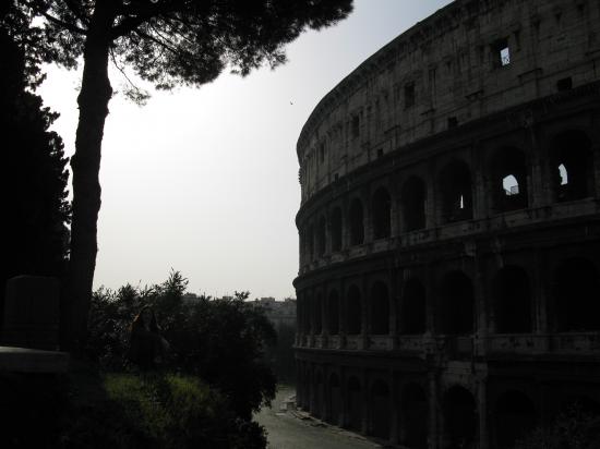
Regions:
[[[386,154],[598,80],[599,21],[589,0],[457,0],[437,11],[314,109],[297,146],[302,204]]]

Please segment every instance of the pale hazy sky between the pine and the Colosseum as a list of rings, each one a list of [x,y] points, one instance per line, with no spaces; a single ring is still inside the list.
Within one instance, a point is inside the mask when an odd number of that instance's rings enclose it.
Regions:
[[[288,47],[288,63],[200,89],[117,95],[103,143],[95,288],[164,281],[171,268],[211,295],[295,296],[300,205],[296,142],[337,83],[451,0],[355,0],[337,26]],[[48,69],[39,89],[74,151],[80,73]],[[116,90],[122,78],[111,77]]]

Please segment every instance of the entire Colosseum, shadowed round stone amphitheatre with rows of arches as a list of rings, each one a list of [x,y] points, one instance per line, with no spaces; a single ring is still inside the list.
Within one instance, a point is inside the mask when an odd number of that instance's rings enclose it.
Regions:
[[[600,1],[454,1],[297,151],[299,406],[413,449],[600,411]]]

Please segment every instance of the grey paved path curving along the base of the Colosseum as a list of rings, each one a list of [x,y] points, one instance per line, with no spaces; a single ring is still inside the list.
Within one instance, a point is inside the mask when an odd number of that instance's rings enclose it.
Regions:
[[[279,386],[271,409],[263,409],[256,421],[268,432],[268,449],[373,449],[383,448],[364,437],[286,411],[284,402],[295,393],[290,387]]]

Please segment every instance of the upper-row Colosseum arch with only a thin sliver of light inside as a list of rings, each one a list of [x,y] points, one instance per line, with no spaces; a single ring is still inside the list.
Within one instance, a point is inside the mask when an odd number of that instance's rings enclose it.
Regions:
[[[442,222],[472,218],[472,182],[469,166],[454,159],[440,172]]]

